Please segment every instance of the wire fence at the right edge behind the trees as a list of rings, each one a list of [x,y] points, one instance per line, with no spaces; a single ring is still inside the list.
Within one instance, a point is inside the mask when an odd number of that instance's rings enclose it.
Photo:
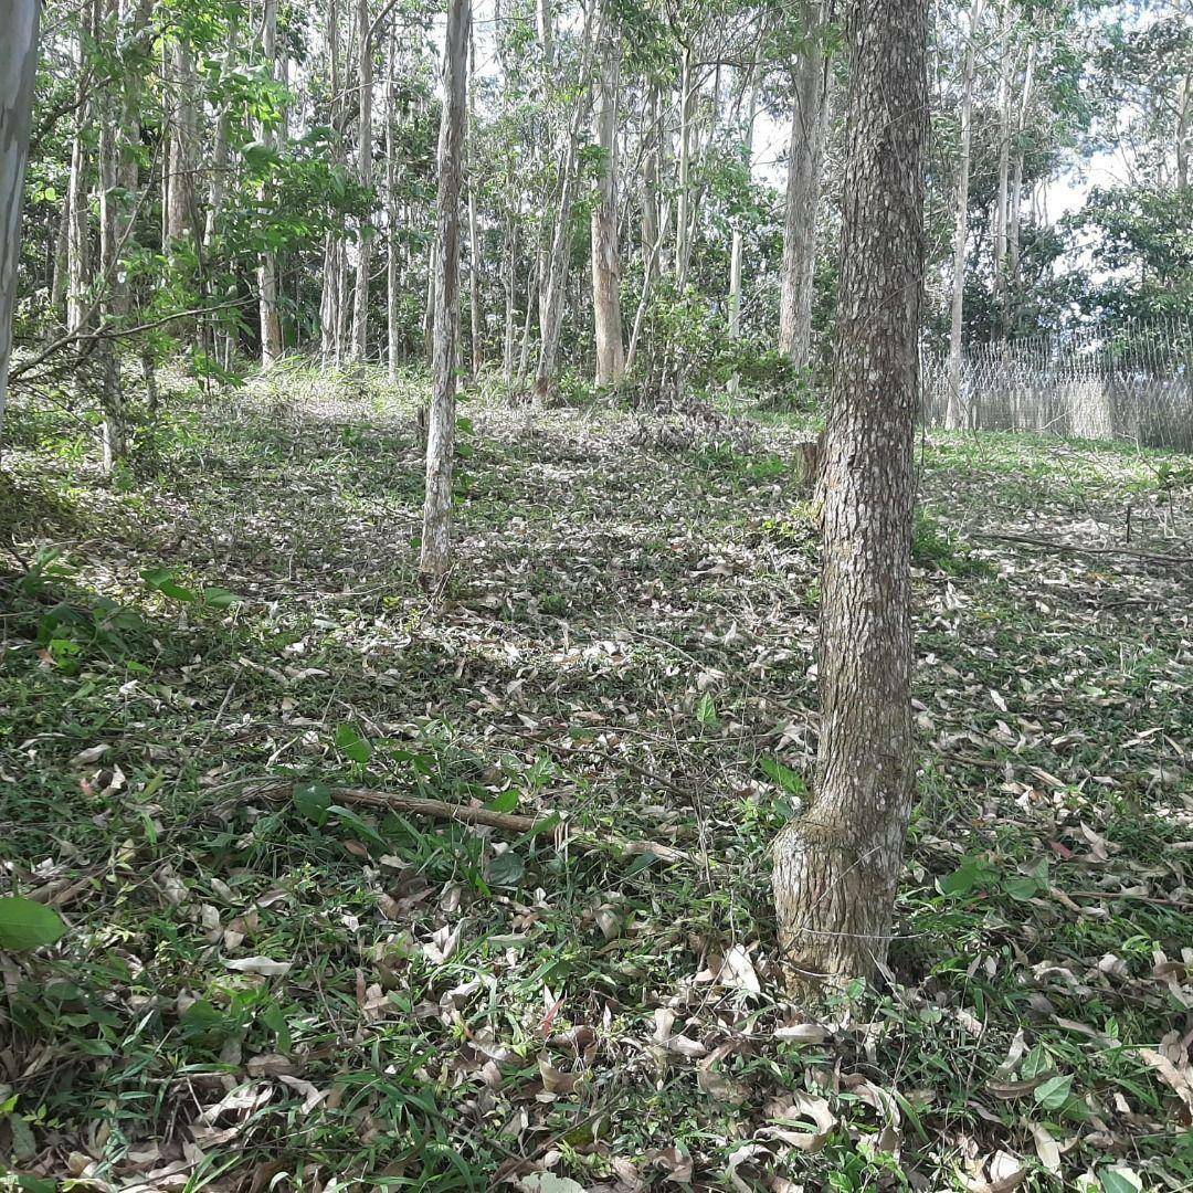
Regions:
[[[1083,327],[921,360],[931,428],[1034,431],[1193,452],[1193,321]]]

